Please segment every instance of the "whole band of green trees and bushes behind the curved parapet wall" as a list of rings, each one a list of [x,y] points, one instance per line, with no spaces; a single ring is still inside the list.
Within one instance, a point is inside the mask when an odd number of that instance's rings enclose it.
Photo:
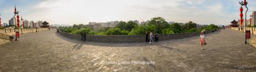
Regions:
[[[195,31],[213,30],[219,28],[218,26],[211,24],[207,27],[197,28],[196,23],[189,21],[184,25],[179,23],[169,24],[162,17],[156,17],[143,25],[138,25],[133,21],[119,22],[115,28],[99,29],[98,31],[92,31],[86,28],[84,25],[73,25],[73,27],[60,27],[61,31],[71,34],[86,33],[89,35],[145,35],[146,31],[152,31],[153,34],[175,34],[175,33],[192,33]]]

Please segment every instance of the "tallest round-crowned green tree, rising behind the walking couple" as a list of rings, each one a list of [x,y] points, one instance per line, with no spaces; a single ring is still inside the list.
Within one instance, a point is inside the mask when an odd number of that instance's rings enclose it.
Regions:
[[[162,17],[155,17],[150,19],[149,24],[156,26],[156,33],[162,34],[162,30],[167,28],[169,23]]]

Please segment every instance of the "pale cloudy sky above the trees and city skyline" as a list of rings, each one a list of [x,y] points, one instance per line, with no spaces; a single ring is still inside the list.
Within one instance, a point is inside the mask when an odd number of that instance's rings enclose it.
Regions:
[[[228,25],[239,19],[243,0],[0,0],[0,18],[9,23],[16,5],[23,19],[52,24],[88,24],[107,21],[147,21]],[[256,11],[256,0],[247,0],[247,18]],[[254,4],[254,5],[253,5]],[[244,16],[246,8],[243,6]]]

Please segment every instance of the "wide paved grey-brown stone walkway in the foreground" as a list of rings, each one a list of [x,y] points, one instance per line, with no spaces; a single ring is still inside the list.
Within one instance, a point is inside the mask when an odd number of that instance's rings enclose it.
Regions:
[[[244,44],[244,33],[222,30],[199,36],[145,43],[81,42],[53,33],[23,34],[0,45],[0,71],[256,71],[256,50]],[[154,61],[117,64],[107,61]]]

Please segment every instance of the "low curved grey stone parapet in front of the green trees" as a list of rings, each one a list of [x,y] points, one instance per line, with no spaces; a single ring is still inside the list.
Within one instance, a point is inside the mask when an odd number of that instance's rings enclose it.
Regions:
[[[206,31],[205,34],[212,33],[212,31]],[[81,40],[81,35],[69,34],[59,31],[59,34],[71,39]],[[158,37],[159,41],[165,41],[170,39],[179,39],[198,36],[200,32],[195,33],[179,33],[179,34],[160,34]],[[92,42],[145,42],[145,35],[87,35],[86,41]],[[155,35],[154,35],[155,39]]]

